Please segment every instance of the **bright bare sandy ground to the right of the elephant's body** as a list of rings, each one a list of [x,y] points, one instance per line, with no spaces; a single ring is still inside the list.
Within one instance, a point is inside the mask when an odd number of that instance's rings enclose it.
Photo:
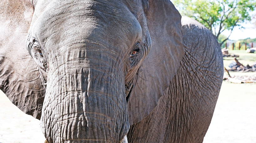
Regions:
[[[256,84],[223,81],[203,143],[256,143]]]

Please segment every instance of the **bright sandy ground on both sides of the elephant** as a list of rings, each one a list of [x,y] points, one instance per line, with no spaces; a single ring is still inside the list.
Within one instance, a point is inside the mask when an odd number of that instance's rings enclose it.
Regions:
[[[44,143],[39,121],[0,91],[0,143]],[[256,84],[223,86],[203,143],[256,143]]]

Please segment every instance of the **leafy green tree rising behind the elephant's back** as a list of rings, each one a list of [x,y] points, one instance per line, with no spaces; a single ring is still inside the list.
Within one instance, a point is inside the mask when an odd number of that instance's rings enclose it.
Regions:
[[[255,0],[173,0],[181,15],[194,18],[209,29],[216,39],[224,30],[251,20],[249,12],[255,9]],[[229,35],[229,36],[230,36]],[[229,36],[222,39],[222,45]]]

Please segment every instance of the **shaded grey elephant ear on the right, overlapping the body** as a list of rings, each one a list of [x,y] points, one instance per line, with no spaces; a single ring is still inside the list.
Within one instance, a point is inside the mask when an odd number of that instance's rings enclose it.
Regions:
[[[127,99],[130,125],[140,122],[156,107],[184,55],[180,13],[169,0],[149,0],[148,4],[152,45]]]

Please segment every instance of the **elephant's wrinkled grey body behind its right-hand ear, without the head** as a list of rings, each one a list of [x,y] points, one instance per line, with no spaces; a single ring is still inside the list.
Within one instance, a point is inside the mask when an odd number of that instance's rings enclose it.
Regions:
[[[185,54],[177,74],[152,112],[131,126],[129,143],[203,141],[222,83],[223,73],[213,72],[223,70],[217,66],[222,53],[212,33],[191,18],[182,17],[182,35]]]

